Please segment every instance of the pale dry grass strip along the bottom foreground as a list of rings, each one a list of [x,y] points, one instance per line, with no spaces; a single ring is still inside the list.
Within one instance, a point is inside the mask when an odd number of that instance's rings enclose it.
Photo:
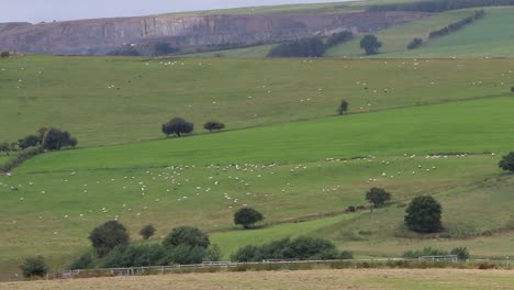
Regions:
[[[0,290],[512,289],[509,270],[345,269],[249,271],[0,283]]]

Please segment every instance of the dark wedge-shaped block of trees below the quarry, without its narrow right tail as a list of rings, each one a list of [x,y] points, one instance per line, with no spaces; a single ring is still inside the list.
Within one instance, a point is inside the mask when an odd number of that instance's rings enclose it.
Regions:
[[[268,57],[321,57],[325,54],[325,44],[319,37],[298,40],[275,46]]]

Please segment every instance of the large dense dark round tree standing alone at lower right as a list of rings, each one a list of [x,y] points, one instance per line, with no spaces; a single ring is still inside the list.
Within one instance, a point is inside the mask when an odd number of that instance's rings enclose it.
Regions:
[[[405,210],[405,225],[417,233],[436,233],[443,230],[443,208],[431,196],[415,198]]]

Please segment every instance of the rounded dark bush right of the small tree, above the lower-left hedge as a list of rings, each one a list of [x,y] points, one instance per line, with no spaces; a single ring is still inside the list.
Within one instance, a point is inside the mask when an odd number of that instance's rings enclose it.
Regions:
[[[179,245],[208,248],[210,244],[209,235],[192,226],[175,227],[163,241],[163,245],[167,248]]]

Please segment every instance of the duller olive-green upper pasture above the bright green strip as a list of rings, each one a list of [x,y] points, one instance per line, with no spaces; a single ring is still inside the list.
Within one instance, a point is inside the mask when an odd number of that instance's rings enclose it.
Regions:
[[[509,91],[513,64],[27,56],[0,62],[0,133],[55,125],[98,146],[160,138],[177,115],[201,133],[211,119],[242,129],[328,116],[343,98],[366,112],[483,97]]]

